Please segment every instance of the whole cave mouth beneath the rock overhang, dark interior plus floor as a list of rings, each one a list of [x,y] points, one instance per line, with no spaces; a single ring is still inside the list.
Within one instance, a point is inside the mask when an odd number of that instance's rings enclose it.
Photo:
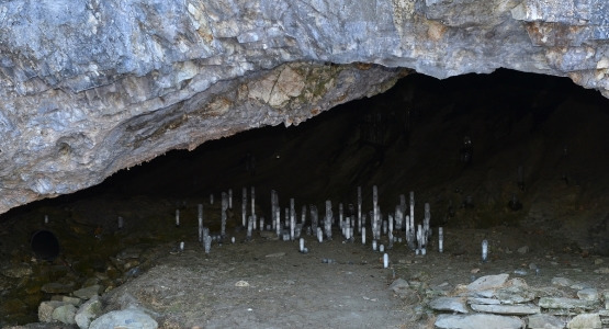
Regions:
[[[542,315],[551,317],[542,324],[564,326],[591,314],[607,326],[608,124],[609,100],[566,78],[507,69],[444,80],[410,73],[298,125],[171,150],[1,215],[0,325],[55,328],[63,319],[55,309],[90,298],[82,291],[92,288],[106,314],[137,309],[160,328],[444,328],[452,315],[437,300],[507,274],[498,291],[517,297],[504,296],[505,304],[525,307],[518,298],[532,294],[526,305],[533,310],[480,314],[516,326]],[[393,239],[383,222],[373,236],[374,190],[380,220],[394,220]],[[271,224],[275,192],[280,230]],[[408,245],[404,219],[397,224],[401,197],[407,215],[410,192],[415,226],[425,204],[431,213],[425,254]],[[286,217],[292,200],[295,223],[305,217],[296,232]],[[322,231],[326,201],[331,238],[323,231],[319,242],[313,207]],[[199,236],[200,206],[210,250]],[[248,232],[252,212],[257,227]],[[341,230],[347,217],[353,232]],[[586,290],[596,299],[577,299]],[[550,298],[588,304],[543,304]]]

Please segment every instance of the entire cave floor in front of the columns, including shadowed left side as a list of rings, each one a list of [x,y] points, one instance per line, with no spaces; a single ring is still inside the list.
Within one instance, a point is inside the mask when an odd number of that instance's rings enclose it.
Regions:
[[[255,231],[248,241],[246,232],[232,225],[227,237],[235,237],[235,243],[229,238],[223,245],[216,241],[205,254],[194,220],[183,219],[179,228],[170,220],[139,224],[140,228],[132,223],[113,231],[87,230],[74,222],[49,224],[55,231],[68,228],[75,238],[64,236],[65,251],[54,262],[26,259],[30,250],[13,251],[13,265],[19,258],[34,274],[13,280],[14,290],[0,296],[2,326],[36,321],[41,300],[19,308],[20,313],[9,307],[14,299],[48,300],[61,295],[40,294],[41,286],[54,279],[74,283],[75,290],[99,283],[108,291],[102,295],[105,311],[136,305],[149,311],[160,328],[432,328],[437,314],[427,307],[431,298],[450,296],[461,284],[500,273],[522,277],[544,295],[577,297],[576,290],[553,285],[554,277],[567,277],[600,293],[609,290],[609,258],[540,230],[446,229],[443,253],[437,251],[437,237],[425,257],[394,243],[386,250],[390,266],[383,269],[382,253],[372,250],[370,237],[363,246],[360,236],[345,241],[336,229],[334,240],[322,243],[304,236],[309,251],[303,254],[297,240],[280,241],[273,239],[274,232]],[[18,237],[3,235],[2,247]],[[481,262],[483,239],[489,242],[485,263]],[[386,237],[380,243],[387,246]],[[66,270],[58,270],[61,266]],[[397,279],[409,283],[406,295],[390,288]]]

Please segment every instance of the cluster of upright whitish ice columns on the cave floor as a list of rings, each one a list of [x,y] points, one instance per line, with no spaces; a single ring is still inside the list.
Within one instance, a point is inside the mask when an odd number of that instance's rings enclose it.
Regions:
[[[210,203],[213,204],[213,194],[210,195]],[[338,216],[332,211],[330,200],[325,203],[325,214],[319,216],[316,205],[302,206],[301,215],[296,213],[295,200],[290,198],[289,207],[283,209],[279,203],[279,194],[271,191],[271,220],[266,223],[263,216],[256,213],[256,189],[251,186],[243,188],[241,192],[241,226],[247,228],[247,240],[252,238],[255,230],[274,231],[279,239],[292,241],[298,239],[298,251],[306,253],[308,249],[304,246],[303,234],[313,236],[318,242],[332,239],[332,230],[338,228],[346,242],[353,242],[356,236],[361,237],[362,245],[366,243],[366,237],[372,238],[372,249],[384,252],[385,246],[380,245],[382,237],[386,237],[387,249],[393,249],[394,243],[406,242],[408,249],[416,254],[425,256],[429,247],[429,239],[432,236],[431,209],[428,203],[425,204],[424,218],[420,223],[415,222],[415,193],[409,193],[409,204],[406,204],[406,196],[399,195],[399,203],[395,206],[395,213],[383,215],[379,205],[379,189],[372,188],[372,209],[368,214],[370,225],[366,226],[368,216],[362,211],[363,197],[362,188],[358,186],[357,211],[353,204],[349,204],[347,212],[342,203],[338,204]],[[203,224],[203,204],[198,205],[199,222],[199,242],[203,246],[206,253],[211,251],[213,240],[222,241],[226,237],[227,211],[233,209],[233,190],[222,193],[222,225],[219,236],[212,236],[210,229]],[[307,212],[308,211],[308,212]],[[309,218],[307,218],[307,214]],[[176,211],[176,226],[180,226],[180,211]],[[370,234],[366,234],[366,228]],[[232,238],[235,242],[235,238]],[[183,248],[183,242],[180,245]],[[443,229],[438,228],[438,251],[443,252]],[[385,266],[388,264],[388,257],[384,256]]]

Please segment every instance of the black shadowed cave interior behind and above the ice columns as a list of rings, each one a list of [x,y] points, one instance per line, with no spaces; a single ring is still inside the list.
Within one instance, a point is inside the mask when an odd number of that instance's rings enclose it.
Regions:
[[[80,273],[71,280],[80,285],[88,273],[109,268],[106,257],[83,253],[115,254],[143,241],[195,241],[199,203],[211,230],[218,231],[221,193],[232,189],[240,204],[241,189],[251,186],[257,213],[267,218],[272,190],[281,207],[293,197],[296,209],[312,204],[323,209],[326,200],[335,207],[357,204],[362,186],[368,212],[377,185],[386,213],[401,194],[414,191],[419,205],[430,204],[433,229],[508,227],[543,235],[556,250],[609,256],[607,127],[609,100],[567,78],[505,69],[446,80],[415,73],[384,94],[298,126],[253,129],[193,151],[169,151],[88,190],[14,208],[0,216],[0,266],[29,262],[36,257],[32,248],[45,249],[29,242],[34,232],[53,249],[48,230],[60,248],[38,258],[70,263]],[[163,237],[176,209],[182,230]],[[416,212],[421,218],[422,207]],[[229,235],[239,231],[239,206],[233,215]],[[52,276],[66,274],[57,271]],[[23,305],[2,303],[5,318],[49,295],[40,292],[44,280],[20,284],[32,293]],[[5,288],[0,300],[15,296]]]

